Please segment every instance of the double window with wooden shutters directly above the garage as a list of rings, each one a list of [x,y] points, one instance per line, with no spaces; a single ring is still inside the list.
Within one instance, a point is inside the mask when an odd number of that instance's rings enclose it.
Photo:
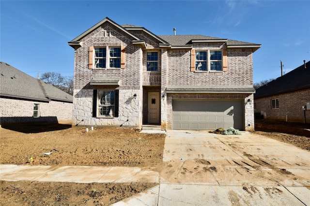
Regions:
[[[195,51],[195,71],[223,71],[222,51]]]

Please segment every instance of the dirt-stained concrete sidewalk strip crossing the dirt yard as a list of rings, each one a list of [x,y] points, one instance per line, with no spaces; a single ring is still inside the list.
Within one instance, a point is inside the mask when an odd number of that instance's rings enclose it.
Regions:
[[[0,180],[76,183],[159,182],[157,172],[139,167],[0,165]]]

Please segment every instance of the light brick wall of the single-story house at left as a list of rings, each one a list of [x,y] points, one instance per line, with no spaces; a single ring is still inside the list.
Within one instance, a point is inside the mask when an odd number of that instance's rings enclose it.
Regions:
[[[39,118],[33,118],[33,104],[39,104]],[[72,120],[72,103],[37,102],[0,98],[1,123]]]

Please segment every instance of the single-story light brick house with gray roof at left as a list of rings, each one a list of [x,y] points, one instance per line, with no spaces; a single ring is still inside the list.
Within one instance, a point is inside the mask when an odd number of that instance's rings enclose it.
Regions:
[[[72,120],[73,97],[0,62],[0,124]]]

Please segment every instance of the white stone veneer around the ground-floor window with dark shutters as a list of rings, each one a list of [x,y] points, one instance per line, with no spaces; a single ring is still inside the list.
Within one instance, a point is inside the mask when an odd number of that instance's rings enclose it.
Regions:
[[[134,99],[133,95],[138,94]],[[73,99],[73,124],[78,126],[94,127],[134,127],[140,128],[140,90],[119,90],[119,117],[95,118],[93,117],[93,89],[75,89]],[[128,121],[127,121],[128,119]],[[83,121],[82,121],[83,120]]]

